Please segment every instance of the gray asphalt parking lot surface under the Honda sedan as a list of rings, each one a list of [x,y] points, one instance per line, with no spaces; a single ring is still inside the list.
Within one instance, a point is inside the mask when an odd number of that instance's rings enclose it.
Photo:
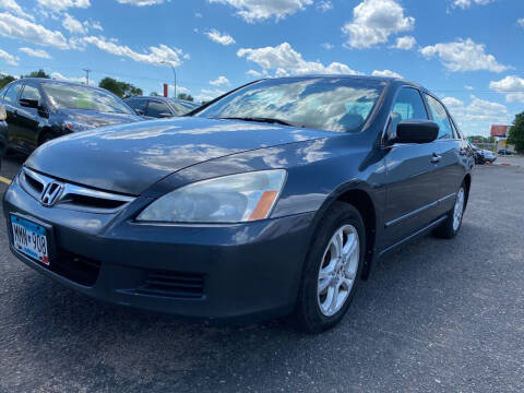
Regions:
[[[94,301],[12,257],[2,224],[0,392],[523,392],[523,202],[524,166],[478,167],[457,238],[384,260],[318,336]]]

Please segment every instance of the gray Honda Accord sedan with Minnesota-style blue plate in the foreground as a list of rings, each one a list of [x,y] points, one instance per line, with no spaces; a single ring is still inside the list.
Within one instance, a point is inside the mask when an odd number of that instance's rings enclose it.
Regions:
[[[183,118],[50,141],[3,209],[11,251],[85,295],[203,320],[293,314],[321,332],[381,257],[457,234],[473,166],[414,83],[269,79]]]

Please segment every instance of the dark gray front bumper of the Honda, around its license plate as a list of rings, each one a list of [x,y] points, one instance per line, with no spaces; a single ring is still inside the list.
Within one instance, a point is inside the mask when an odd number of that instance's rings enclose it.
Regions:
[[[3,209],[51,227],[51,267],[24,263],[91,297],[195,319],[253,321],[289,313],[313,213],[236,225],[150,225],[118,214],[44,207],[15,178]]]

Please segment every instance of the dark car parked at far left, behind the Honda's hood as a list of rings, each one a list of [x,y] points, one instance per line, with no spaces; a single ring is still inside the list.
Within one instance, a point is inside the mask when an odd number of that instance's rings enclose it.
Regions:
[[[106,90],[49,79],[21,79],[0,91],[8,147],[31,153],[71,132],[143,120]]]

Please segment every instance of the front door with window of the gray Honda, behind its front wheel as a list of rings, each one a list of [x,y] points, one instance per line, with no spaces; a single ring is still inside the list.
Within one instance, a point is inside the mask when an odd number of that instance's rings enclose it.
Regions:
[[[420,92],[401,87],[390,115],[388,133],[394,135],[402,120],[428,120]],[[428,225],[436,216],[439,195],[438,151],[431,143],[393,143],[385,146],[385,237],[383,246],[394,245]]]

